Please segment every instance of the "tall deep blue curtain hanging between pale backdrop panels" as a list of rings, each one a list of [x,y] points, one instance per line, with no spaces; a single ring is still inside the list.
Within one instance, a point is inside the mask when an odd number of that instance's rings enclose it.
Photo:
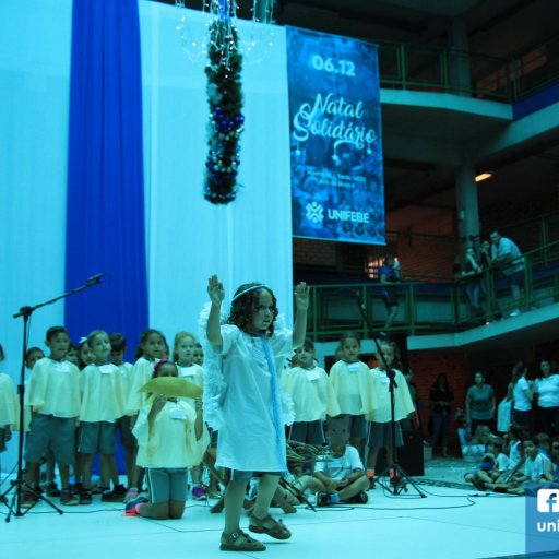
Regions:
[[[72,340],[122,332],[129,356],[147,328],[142,72],[138,0],[74,0],[67,202]]]

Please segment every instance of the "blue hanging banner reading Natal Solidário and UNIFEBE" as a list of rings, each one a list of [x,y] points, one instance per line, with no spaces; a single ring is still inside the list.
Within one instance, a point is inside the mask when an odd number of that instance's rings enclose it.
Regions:
[[[294,237],[385,243],[374,45],[289,27]]]

